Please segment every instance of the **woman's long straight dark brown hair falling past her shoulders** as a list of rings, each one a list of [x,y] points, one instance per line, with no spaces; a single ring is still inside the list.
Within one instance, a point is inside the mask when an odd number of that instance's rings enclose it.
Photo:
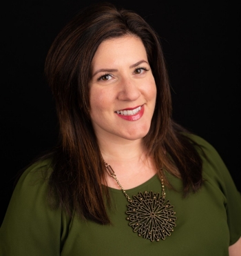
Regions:
[[[91,63],[106,39],[136,35],[147,51],[156,81],[157,97],[145,148],[160,166],[180,177],[184,194],[202,184],[202,160],[184,128],[171,119],[171,92],[160,39],[140,15],[98,3],[84,8],[56,37],[45,62],[45,74],[56,101],[59,145],[52,150],[50,196],[70,215],[74,210],[87,219],[108,224],[105,166],[90,119]],[[195,170],[195,171],[193,171]],[[168,184],[168,181],[165,180]]]

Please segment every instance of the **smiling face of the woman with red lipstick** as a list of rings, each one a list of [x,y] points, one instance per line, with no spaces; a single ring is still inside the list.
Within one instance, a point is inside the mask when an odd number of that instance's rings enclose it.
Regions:
[[[143,42],[134,36],[103,41],[90,80],[90,116],[97,138],[142,139],[155,104],[156,83]]]

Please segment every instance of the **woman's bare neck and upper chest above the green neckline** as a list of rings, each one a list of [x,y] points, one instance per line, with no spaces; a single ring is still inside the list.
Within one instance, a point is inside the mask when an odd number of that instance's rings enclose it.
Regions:
[[[125,189],[134,188],[156,174],[153,161],[147,156],[143,139],[98,139],[104,161],[112,166]],[[105,175],[107,186],[120,189],[116,181]]]

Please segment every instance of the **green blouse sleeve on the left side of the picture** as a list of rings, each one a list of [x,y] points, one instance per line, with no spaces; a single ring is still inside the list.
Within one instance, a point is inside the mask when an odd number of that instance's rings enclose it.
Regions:
[[[21,175],[0,228],[1,256],[60,255],[61,210],[47,200],[45,163],[36,163]]]

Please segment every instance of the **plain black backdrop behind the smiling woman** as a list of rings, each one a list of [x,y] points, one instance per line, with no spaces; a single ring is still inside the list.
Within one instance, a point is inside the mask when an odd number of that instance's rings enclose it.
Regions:
[[[8,1],[1,13],[0,224],[17,172],[54,145],[57,122],[43,78],[54,37],[96,1]],[[220,153],[241,191],[238,1],[112,1],[141,14],[161,37],[173,117]]]

